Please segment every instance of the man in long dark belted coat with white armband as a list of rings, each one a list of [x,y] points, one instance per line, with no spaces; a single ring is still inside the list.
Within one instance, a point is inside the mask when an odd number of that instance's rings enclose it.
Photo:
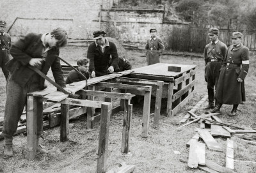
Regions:
[[[233,105],[229,116],[236,116],[239,103],[245,102],[244,78],[249,70],[249,49],[242,44],[243,34],[232,33],[232,45],[228,47],[220,70],[216,87],[216,107],[212,112],[220,112],[222,104]]]

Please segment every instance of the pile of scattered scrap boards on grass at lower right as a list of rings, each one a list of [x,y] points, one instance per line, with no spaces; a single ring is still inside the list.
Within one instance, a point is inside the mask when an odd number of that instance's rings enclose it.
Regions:
[[[198,102],[200,104],[196,104],[196,109],[204,103],[204,99],[205,98],[202,99],[203,101],[201,100]],[[177,130],[180,130],[182,127],[188,126],[189,124],[195,122],[200,123],[200,128],[195,128],[195,135],[186,144],[186,146],[189,147],[188,158],[180,158],[180,162],[188,163],[188,167],[190,168],[197,168],[210,173],[234,172],[234,140],[230,139],[231,135],[239,133],[238,135],[241,140],[247,144],[256,145],[256,142],[253,141],[256,140],[255,136],[241,135],[241,133],[256,134],[256,130],[224,123],[217,117],[220,113],[205,112],[204,114],[197,116],[194,113],[196,109],[193,107],[192,111],[188,111],[189,117],[191,116],[193,120],[177,128]],[[184,118],[187,118],[186,116]],[[214,137],[223,137],[224,139],[227,139],[226,148],[224,149],[221,147]],[[201,139],[201,142],[199,142],[199,139]],[[211,151],[224,152],[226,155],[226,167],[218,165],[212,160],[207,160],[206,147]]]

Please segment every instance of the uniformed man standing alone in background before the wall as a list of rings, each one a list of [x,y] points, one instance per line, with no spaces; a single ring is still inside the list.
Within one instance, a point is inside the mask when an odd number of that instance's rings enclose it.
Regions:
[[[164,50],[164,43],[161,38],[157,37],[156,32],[154,28],[149,30],[151,37],[145,46],[148,65],[160,63],[161,54]]]

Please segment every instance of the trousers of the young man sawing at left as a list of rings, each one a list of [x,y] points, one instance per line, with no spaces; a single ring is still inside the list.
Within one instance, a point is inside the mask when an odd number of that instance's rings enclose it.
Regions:
[[[20,87],[12,80],[10,73],[6,85],[6,104],[4,110],[4,137],[12,137],[17,130],[20,116],[27,103],[27,94],[40,89],[40,77],[35,74],[29,79],[25,87]],[[35,115],[38,116],[38,115]],[[43,130],[43,117],[37,117],[36,135],[40,136]]]

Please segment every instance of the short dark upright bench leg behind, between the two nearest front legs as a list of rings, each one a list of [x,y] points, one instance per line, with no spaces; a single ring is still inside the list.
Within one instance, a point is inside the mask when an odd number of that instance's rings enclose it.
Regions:
[[[61,104],[60,141],[68,140],[69,105]]]

